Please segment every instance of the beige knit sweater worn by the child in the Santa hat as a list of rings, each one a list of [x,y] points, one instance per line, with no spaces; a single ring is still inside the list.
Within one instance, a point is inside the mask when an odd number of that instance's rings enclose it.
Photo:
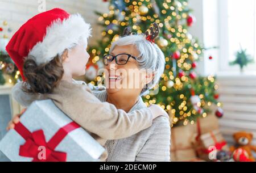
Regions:
[[[148,108],[126,113],[113,104],[101,102],[80,83],[61,81],[52,94],[28,95],[21,90],[22,82],[13,88],[14,99],[22,106],[34,100],[52,99],[66,115],[86,129],[101,145],[106,140],[126,138],[152,125]]]

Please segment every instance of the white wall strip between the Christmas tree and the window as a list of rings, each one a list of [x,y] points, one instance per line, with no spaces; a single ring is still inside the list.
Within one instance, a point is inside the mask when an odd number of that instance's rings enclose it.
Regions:
[[[218,47],[218,0],[190,0],[188,6],[193,10],[196,23],[189,32],[203,43],[205,48]],[[213,60],[209,60],[209,56]],[[204,52],[204,58],[199,62],[197,73],[201,75],[216,74],[218,71],[218,49]]]

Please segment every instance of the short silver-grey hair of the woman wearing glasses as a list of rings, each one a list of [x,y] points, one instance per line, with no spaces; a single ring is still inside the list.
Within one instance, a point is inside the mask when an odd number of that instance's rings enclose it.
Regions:
[[[135,45],[139,52],[138,67],[145,70],[152,69],[154,72],[154,78],[148,83],[147,88],[143,88],[141,95],[153,88],[159,82],[166,63],[164,54],[158,45],[150,43],[143,34],[121,37],[112,43],[109,51],[112,52],[116,45]]]

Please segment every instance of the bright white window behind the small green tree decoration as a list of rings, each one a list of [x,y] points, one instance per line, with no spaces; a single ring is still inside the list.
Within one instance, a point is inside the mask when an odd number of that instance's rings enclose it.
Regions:
[[[219,0],[220,71],[238,71],[238,66],[229,66],[236,58],[236,52],[247,49],[256,62],[256,1]],[[250,64],[245,70],[256,71]]]

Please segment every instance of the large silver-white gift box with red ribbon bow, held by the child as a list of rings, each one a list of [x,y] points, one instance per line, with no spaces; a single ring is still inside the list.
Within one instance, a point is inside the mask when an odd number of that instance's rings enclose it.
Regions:
[[[35,101],[0,141],[10,161],[99,161],[105,149],[52,100]]]

